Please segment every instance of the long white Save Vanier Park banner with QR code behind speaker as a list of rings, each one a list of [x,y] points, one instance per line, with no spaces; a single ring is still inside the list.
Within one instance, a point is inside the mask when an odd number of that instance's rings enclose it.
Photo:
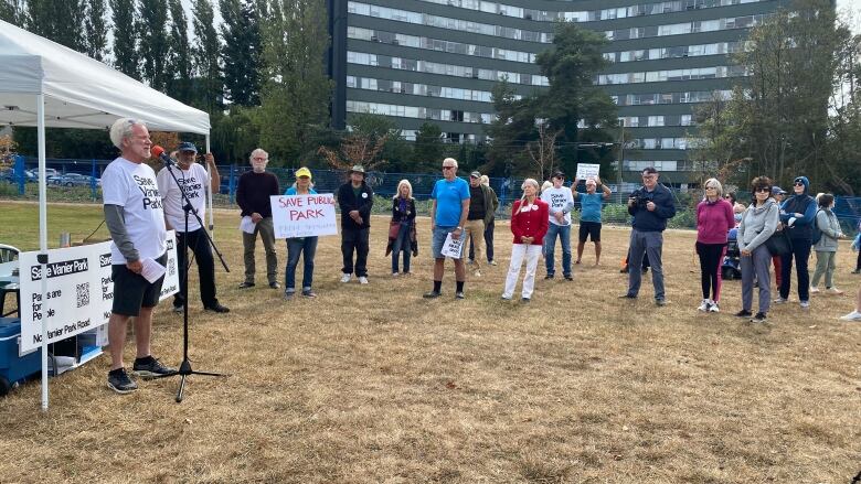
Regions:
[[[168,267],[160,300],[179,292],[177,241],[168,232]],[[42,345],[42,321],[47,321],[47,343],[54,343],[107,324],[114,303],[110,243],[47,251],[45,273],[38,251],[21,252],[21,351]],[[42,277],[47,290],[42,294]]]

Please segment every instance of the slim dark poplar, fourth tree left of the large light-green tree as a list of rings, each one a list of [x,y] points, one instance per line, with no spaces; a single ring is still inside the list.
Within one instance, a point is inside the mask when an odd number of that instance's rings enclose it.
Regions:
[[[140,42],[138,54],[141,60],[144,80],[156,90],[164,92],[168,85],[168,58],[170,43],[166,25],[168,24],[167,0],[139,0],[138,21],[135,25]]]

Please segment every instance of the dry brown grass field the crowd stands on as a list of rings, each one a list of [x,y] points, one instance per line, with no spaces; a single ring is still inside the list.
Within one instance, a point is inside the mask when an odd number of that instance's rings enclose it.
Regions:
[[[836,320],[852,298],[777,306],[754,326],[731,315],[733,281],[724,312],[702,315],[692,233],[666,237],[670,304],[660,309],[650,281],[639,301],[616,299],[623,228],[605,228],[602,267],[587,251],[574,282],[540,280],[532,303],[501,303],[504,224],[500,266],[470,279],[465,301],[450,272],[444,297],[425,301],[427,222],[416,275],[392,279],[384,218],[374,219],[370,286],[338,282],[339,238],[329,237],[319,298],[284,302],[265,286],[235,289],[237,217],[217,218],[233,270],[220,271],[220,295],[232,312],[202,313],[195,301],[191,354],[196,369],[232,376],[191,377],[182,405],[177,379],[118,396],[103,356],[51,381],[47,413],[38,384],[19,388],[0,401],[0,481],[848,483],[861,471],[861,325]],[[848,275],[853,256],[841,247],[848,290],[861,281]],[[155,351],[177,363],[181,319],[168,309]]]

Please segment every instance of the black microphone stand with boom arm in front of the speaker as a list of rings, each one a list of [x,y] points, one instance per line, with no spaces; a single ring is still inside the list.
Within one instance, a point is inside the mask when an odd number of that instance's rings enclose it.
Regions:
[[[182,402],[182,396],[183,391],[185,389],[185,378],[190,375],[202,375],[202,376],[227,376],[221,373],[211,373],[211,372],[198,372],[191,368],[191,361],[189,359],[189,267],[190,267],[190,260],[189,260],[189,214],[194,215],[194,218],[198,219],[198,224],[200,224],[201,228],[203,228],[203,234],[206,237],[206,243],[212,246],[212,249],[215,251],[215,255],[219,256],[219,260],[221,260],[221,265],[224,267],[224,270],[230,272],[230,268],[227,267],[227,262],[224,261],[224,257],[222,256],[221,251],[219,251],[219,248],[215,246],[215,243],[212,240],[212,237],[210,237],[210,234],[204,228],[203,221],[201,221],[200,215],[198,215],[198,212],[194,209],[194,207],[191,206],[191,201],[189,200],[188,195],[185,194],[185,187],[184,185],[181,185],[179,180],[177,179],[177,174],[173,173],[173,165],[176,162],[171,160],[170,158],[162,158],[162,161],[164,162],[164,169],[168,170],[168,173],[170,173],[170,178],[173,179],[173,183],[177,184],[177,187],[179,187],[180,194],[182,195],[182,211],[185,213],[185,235],[182,237],[182,254],[185,255],[185,260],[189,263],[185,263],[182,269],[183,272],[181,275],[182,277],[182,363],[180,363],[179,370],[171,376],[179,376],[180,377],[180,387],[177,391],[177,404]]]

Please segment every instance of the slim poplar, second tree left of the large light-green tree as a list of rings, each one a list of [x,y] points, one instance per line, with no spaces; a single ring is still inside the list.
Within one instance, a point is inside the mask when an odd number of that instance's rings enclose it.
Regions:
[[[193,0],[192,28],[196,42],[191,50],[193,75],[198,78],[193,88],[194,106],[210,115],[223,104],[219,34],[215,32],[215,12],[210,0]]]

